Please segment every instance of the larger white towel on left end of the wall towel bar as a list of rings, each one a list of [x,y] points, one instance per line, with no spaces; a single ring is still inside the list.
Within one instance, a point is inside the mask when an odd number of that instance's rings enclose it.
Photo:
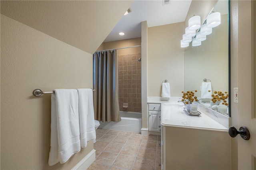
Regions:
[[[51,102],[51,148],[48,164],[65,163],[79,152],[78,92],[75,89],[55,89]]]

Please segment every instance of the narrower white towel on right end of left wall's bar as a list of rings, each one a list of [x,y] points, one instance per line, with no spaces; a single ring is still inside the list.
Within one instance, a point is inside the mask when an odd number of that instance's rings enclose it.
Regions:
[[[92,89],[77,89],[79,101],[79,126],[81,147],[87,146],[87,141],[96,139],[93,109]]]

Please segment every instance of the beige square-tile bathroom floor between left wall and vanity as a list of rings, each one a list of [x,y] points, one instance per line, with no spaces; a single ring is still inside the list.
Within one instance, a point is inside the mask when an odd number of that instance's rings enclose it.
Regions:
[[[161,170],[161,137],[96,130],[96,160],[88,170]]]

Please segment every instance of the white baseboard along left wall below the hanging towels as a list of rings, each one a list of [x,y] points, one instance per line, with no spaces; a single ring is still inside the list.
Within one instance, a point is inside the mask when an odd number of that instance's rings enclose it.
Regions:
[[[88,153],[72,170],[86,170],[96,159],[95,149]]]

